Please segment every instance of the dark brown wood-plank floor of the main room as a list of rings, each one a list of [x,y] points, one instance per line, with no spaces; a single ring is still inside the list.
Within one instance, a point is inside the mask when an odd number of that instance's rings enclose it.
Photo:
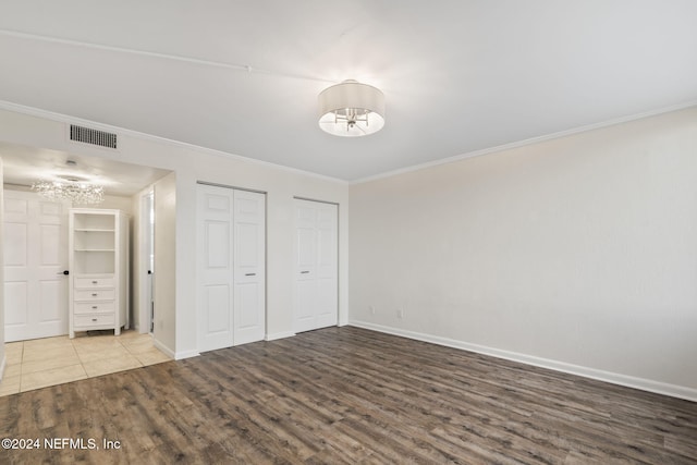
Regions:
[[[0,397],[0,425],[41,442],[2,464],[697,463],[697,403],[351,327]]]

